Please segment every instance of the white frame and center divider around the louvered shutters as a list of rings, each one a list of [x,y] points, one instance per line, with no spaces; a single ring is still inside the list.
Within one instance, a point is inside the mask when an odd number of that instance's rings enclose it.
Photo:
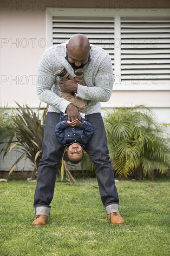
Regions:
[[[46,40],[47,47],[52,47],[52,16],[66,16],[66,17],[114,17],[115,30],[114,30],[114,38],[120,39],[121,29],[120,29],[120,17],[169,17],[169,9],[168,8],[159,8],[159,9],[151,9],[146,10],[141,8],[140,10],[132,10],[132,9],[120,9],[120,10],[112,10],[112,9],[102,9],[98,8],[94,10],[94,8],[46,8]],[[114,59],[116,60],[116,65],[114,66],[114,75],[121,76],[121,47],[115,48],[114,51]],[[114,85],[114,91],[169,91],[170,84],[158,84],[154,85]]]

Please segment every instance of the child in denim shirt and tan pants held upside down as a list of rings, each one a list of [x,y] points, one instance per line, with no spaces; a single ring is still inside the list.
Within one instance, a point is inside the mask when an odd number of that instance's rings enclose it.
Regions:
[[[60,76],[61,80],[68,79],[69,73],[64,67],[58,69],[54,75]],[[75,80],[85,85],[82,69],[77,69],[74,74]],[[60,113],[60,121],[55,127],[55,134],[58,141],[66,146],[65,153],[67,159],[72,163],[78,163],[83,159],[85,144],[93,134],[92,124],[86,121],[85,109],[87,101],[81,100],[74,93],[62,93],[62,98],[74,104],[81,115],[81,120],[68,121],[66,114]]]

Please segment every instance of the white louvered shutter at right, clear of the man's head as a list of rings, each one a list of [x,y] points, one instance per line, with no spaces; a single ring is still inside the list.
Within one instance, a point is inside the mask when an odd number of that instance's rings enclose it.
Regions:
[[[121,18],[121,76],[137,84],[168,84],[170,23],[168,18]],[[139,79],[138,79],[139,78]]]

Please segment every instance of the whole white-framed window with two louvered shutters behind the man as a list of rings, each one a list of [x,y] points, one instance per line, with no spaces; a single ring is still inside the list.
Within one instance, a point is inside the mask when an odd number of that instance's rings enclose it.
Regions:
[[[132,10],[115,13],[98,10],[95,13],[87,9],[85,15],[84,10],[78,9],[65,10],[69,15],[58,15],[52,10],[47,13],[51,15],[47,26],[52,27],[53,45],[66,42],[73,34],[85,34],[90,43],[110,54],[115,90],[169,89],[170,23],[167,11],[141,9],[141,16],[137,17],[138,13]]]

